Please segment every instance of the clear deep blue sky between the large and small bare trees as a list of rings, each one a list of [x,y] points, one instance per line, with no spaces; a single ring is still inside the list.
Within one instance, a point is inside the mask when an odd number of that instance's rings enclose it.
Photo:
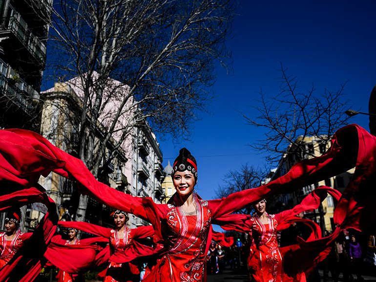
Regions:
[[[297,76],[301,91],[313,85],[336,91],[346,83],[346,98],[353,109],[368,112],[376,84],[376,1],[253,1],[240,0],[241,13],[233,22],[233,74],[218,69],[217,100],[212,115],[202,114],[191,141],[176,147],[171,138],[160,142],[163,165],[173,162],[179,149],[187,147],[198,162],[196,190],[205,199],[215,198],[224,175],[242,164],[263,166],[264,159],[248,144],[260,138],[260,130],[246,124],[237,110],[250,118],[249,105],[262,91],[278,93],[282,63]],[[243,9],[241,11],[241,9]],[[368,116],[357,115],[351,123],[369,130]]]

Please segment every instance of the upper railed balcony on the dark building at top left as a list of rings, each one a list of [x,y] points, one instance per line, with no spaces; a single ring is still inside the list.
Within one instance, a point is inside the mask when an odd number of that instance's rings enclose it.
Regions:
[[[39,65],[46,61],[46,46],[26,28],[21,17],[7,17],[0,19],[0,35],[13,35],[33,55]],[[14,49],[14,48],[13,48]]]

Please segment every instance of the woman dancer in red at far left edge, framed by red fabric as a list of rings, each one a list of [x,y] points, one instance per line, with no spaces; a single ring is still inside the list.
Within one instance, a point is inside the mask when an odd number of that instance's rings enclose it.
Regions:
[[[0,268],[13,258],[23,245],[23,233],[20,230],[21,211],[9,212],[5,216],[6,232],[0,234]]]

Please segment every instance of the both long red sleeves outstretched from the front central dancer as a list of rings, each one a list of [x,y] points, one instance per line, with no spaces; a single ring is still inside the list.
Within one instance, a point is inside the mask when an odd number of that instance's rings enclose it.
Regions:
[[[125,212],[133,211],[136,216],[155,222],[156,226],[154,227],[156,227],[157,235],[155,238],[157,240],[167,239],[162,235],[163,230],[160,229],[158,221],[167,218],[166,215],[171,209],[170,206],[156,205],[151,200],[144,199],[149,204],[149,207],[146,208],[144,205],[146,202],[143,202],[142,198],[132,197],[109,188],[95,180],[84,167],[82,161],[57,149],[36,133],[26,130],[11,130],[13,133],[10,130],[2,131],[5,133],[0,133],[1,138],[8,142],[6,151],[13,158],[12,162],[5,159],[5,164],[11,166],[12,171],[8,170],[11,171],[11,175],[20,174],[20,168],[23,167],[29,170],[31,176],[42,174],[48,171],[48,166],[51,167],[51,165],[48,165],[49,163],[59,162],[59,160],[66,161],[65,167],[55,169],[54,172],[77,181],[82,194],[89,195],[115,209]],[[20,139],[23,139],[24,146],[18,145]],[[25,152],[22,151],[22,147],[26,147]],[[15,150],[20,151],[20,153],[15,153]],[[375,151],[375,137],[357,125],[350,125],[336,132],[331,148],[324,155],[295,164],[289,173],[261,187],[237,192],[227,198],[203,201],[202,203],[210,210],[211,218],[215,219],[229,215],[269,195],[291,193],[296,189],[344,173],[355,167],[355,174],[336,208],[334,223],[338,227],[332,237],[339,234],[341,228],[352,227],[361,231],[375,232],[376,214],[373,213],[372,205],[376,200],[375,189],[372,188],[376,180]],[[25,160],[25,154],[27,157],[32,155],[32,158],[37,159],[44,157],[46,166],[44,166],[42,159],[40,166],[30,168],[29,160]],[[2,161],[0,159],[0,164]],[[30,179],[22,180],[24,186],[32,186],[31,184],[34,183],[30,182]],[[205,230],[207,229],[205,228]],[[160,232],[160,234],[157,232]],[[299,243],[305,248],[320,249],[323,245],[329,244],[330,240],[331,238],[324,238]],[[189,241],[190,239],[187,238],[187,242]]]

